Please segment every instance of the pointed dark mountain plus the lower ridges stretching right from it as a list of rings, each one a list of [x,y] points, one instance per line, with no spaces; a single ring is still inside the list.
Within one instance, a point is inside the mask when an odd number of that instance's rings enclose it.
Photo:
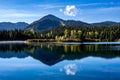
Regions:
[[[26,30],[34,29],[35,31],[39,30],[46,30],[58,26],[120,26],[120,23],[112,22],[112,21],[105,21],[100,23],[86,23],[82,21],[75,21],[75,20],[63,20],[60,19],[54,15],[47,15],[43,18],[39,19],[38,21],[35,21],[28,25],[26,27]]]

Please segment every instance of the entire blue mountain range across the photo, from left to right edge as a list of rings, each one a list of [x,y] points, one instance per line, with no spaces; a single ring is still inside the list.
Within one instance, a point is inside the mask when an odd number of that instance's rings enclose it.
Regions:
[[[103,21],[95,23],[87,23],[80,20],[64,20],[52,14],[48,14],[39,20],[28,24],[26,22],[0,22],[0,30],[14,30],[14,29],[34,29],[35,31],[47,30],[59,26],[120,26],[120,22]]]

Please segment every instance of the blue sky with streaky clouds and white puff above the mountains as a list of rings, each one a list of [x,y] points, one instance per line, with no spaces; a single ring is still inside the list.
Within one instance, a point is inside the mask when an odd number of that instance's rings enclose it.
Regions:
[[[0,0],[0,22],[31,23],[47,14],[88,23],[120,22],[120,0]]]

